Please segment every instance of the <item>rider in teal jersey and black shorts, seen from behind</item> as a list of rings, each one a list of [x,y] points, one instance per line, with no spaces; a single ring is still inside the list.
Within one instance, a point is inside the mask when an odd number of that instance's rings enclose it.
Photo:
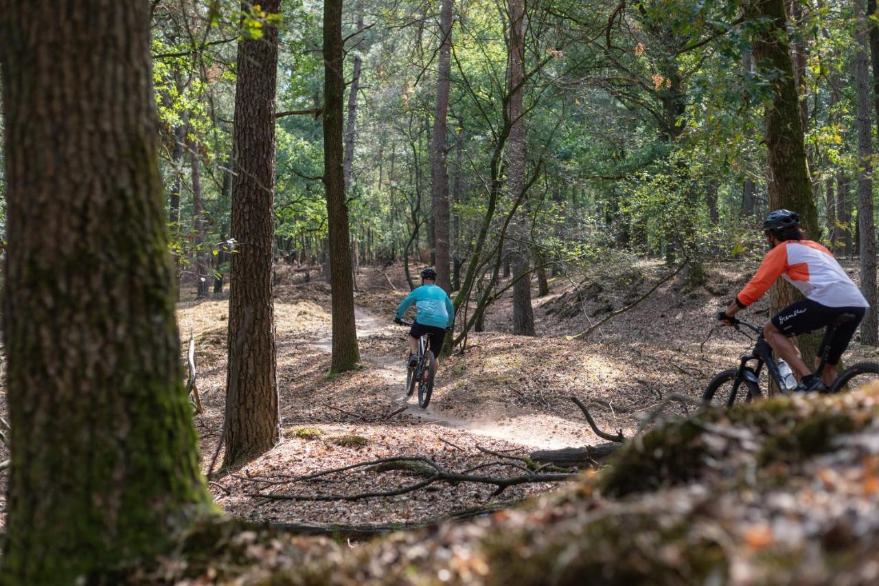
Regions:
[[[436,286],[437,272],[432,268],[421,271],[421,287],[403,299],[403,303],[396,309],[394,321],[399,324],[403,320],[403,314],[411,304],[415,304],[418,314],[409,331],[409,368],[415,368],[418,363],[418,339],[430,333],[430,346],[439,368],[439,352],[442,350],[446,332],[452,329],[454,324],[454,305],[448,298],[446,291]]]

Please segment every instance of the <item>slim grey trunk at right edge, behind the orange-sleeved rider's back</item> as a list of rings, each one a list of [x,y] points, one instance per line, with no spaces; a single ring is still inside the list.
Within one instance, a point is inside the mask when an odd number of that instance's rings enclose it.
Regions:
[[[855,33],[854,84],[858,129],[858,249],[861,254],[861,291],[870,304],[861,322],[861,343],[879,346],[879,319],[876,307],[876,238],[873,218],[873,168],[871,144],[869,49],[870,29],[864,0],[854,0]],[[875,98],[874,96],[872,96]]]

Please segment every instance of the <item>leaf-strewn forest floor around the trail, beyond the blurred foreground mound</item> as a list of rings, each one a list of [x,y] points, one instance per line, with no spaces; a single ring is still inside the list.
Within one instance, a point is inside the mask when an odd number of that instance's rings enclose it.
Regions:
[[[536,449],[603,443],[586,426],[571,396],[589,405],[599,428],[634,435],[644,416],[670,394],[700,397],[709,378],[734,366],[752,343],[730,328],[714,330],[712,317],[730,302],[756,263],[707,268],[704,286],[690,288],[682,278],[671,279],[584,341],[566,336],[631,304],[665,275],[665,267],[644,262],[625,270],[596,268],[576,279],[554,279],[550,295],[534,294],[536,337],[508,333],[512,304],[505,297],[488,312],[486,331],[471,333],[466,351],[442,364],[431,405],[423,410],[403,392],[407,331],[392,319],[409,288],[399,267],[360,270],[355,304],[362,368],[338,377],[327,376],[329,286],[297,284],[292,271],[279,267],[275,311],[282,440],[247,465],[212,476],[214,498],[229,513],[249,520],[417,524],[547,492],[555,485],[525,484],[493,495],[489,485],[441,483],[394,497],[352,501],[277,501],[255,495],[350,497],[412,483],[406,471],[380,473],[374,468],[292,481],[377,458],[420,456],[461,472],[498,461],[483,450],[527,456]],[[196,425],[206,471],[222,433],[227,307],[221,297],[183,302],[178,309],[181,337],[186,341],[192,333],[196,342],[205,408]],[[766,303],[750,309],[745,319],[749,316],[756,323],[765,321]],[[865,353],[866,348],[853,344],[850,359]],[[669,407],[666,413],[683,414],[685,408]]]

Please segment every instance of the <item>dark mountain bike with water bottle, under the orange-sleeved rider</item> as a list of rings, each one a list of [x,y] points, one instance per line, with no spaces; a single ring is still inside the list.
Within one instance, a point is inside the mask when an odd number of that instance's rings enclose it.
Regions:
[[[818,348],[821,362],[818,363],[817,370],[815,370],[816,376],[821,376],[827,362],[827,354],[830,352],[827,341],[831,339],[838,326],[851,319],[854,319],[854,315],[844,313],[830,326],[827,326],[824,339]],[[778,364],[773,360],[772,347],[769,346],[769,342],[763,337],[763,328],[753,326],[741,319],[733,319],[732,323],[738,332],[741,332],[738,326],[745,326],[753,333],[756,333],[757,343],[750,354],[745,354],[741,357],[737,369],[723,370],[723,372],[711,379],[711,382],[708,383],[708,388],[702,394],[702,400],[706,402],[723,402],[731,407],[736,403],[736,399],[751,402],[753,399],[761,398],[763,392],[760,391],[759,377],[760,371],[763,370],[764,366],[766,366],[769,377],[774,380],[777,388],[781,389],[783,394],[789,394],[791,390],[785,385],[783,377],[779,372]],[[752,362],[754,363],[753,366],[749,365]],[[855,363],[842,371],[839,377],[833,381],[833,385],[831,385],[827,392],[854,390],[875,381],[879,381],[879,363]]]

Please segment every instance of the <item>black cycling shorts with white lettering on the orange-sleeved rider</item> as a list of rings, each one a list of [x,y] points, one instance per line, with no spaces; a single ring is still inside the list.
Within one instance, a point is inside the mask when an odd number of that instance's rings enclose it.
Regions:
[[[848,348],[848,342],[852,341],[854,332],[858,329],[866,312],[866,307],[827,307],[817,301],[803,299],[779,311],[772,319],[772,323],[789,338],[797,333],[814,332],[829,326],[834,319],[839,318],[843,313],[854,315],[854,319],[836,327],[831,339],[828,340],[825,333],[825,339],[821,342],[822,347],[826,344],[830,348],[830,352],[827,354],[827,363],[837,364],[842,353]],[[821,355],[820,353],[821,348],[818,348],[818,355]]]

